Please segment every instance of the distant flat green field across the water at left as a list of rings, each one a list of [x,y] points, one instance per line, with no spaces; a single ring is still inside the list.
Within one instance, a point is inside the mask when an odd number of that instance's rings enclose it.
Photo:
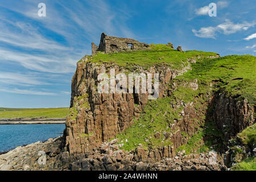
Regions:
[[[68,115],[69,108],[40,108],[40,109],[26,109],[26,108],[4,108],[0,107],[0,119],[2,118],[65,118]]]

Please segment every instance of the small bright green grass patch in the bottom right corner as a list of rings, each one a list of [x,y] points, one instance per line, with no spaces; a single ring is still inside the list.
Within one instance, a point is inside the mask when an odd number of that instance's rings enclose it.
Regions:
[[[252,156],[231,167],[232,171],[256,171],[256,158]]]

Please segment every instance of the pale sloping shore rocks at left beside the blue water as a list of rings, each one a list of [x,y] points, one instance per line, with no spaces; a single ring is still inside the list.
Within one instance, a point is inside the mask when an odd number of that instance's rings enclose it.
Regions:
[[[0,171],[56,170],[57,164],[59,164],[57,155],[61,151],[61,138],[50,138],[44,143],[36,142],[24,147],[16,147],[14,150],[0,155]],[[46,165],[38,163],[43,154],[40,154],[40,151],[46,154]]]

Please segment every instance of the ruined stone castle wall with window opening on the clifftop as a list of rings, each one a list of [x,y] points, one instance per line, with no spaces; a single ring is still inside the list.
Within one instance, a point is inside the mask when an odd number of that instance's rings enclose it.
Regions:
[[[134,39],[117,38],[115,36],[108,36],[105,33],[101,34],[100,45],[92,43],[92,56],[98,51],[102,53],[113,53],[121,51],[138,51],[150,49],[149,44],[138,42]]]

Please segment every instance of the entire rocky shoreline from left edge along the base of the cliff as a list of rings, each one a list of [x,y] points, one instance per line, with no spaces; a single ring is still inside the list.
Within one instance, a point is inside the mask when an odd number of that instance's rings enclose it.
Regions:
[[[72,156],[61,150],[62,137],[36,142],[0,155],[0,171],[225,171],[228,168],[222,157],[210,151],[201,154],[184,155],[179,152],[175,158],[155,160],[145,155],[140,148],[127,152],[119,150],[115,141],[102,143],[93,151]],[[39,152],[46,154],[46,164],[39,164]]]

